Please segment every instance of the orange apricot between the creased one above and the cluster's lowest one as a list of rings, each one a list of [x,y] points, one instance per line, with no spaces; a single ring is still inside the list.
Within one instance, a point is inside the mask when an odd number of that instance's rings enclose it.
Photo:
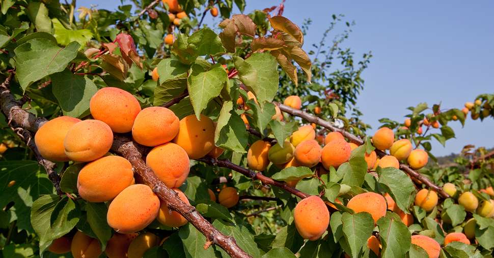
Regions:
[[[132,165],[120,156],[98,158],[84,166],[77,176],[80,197],[92,203],[110,201],[133,183]]]

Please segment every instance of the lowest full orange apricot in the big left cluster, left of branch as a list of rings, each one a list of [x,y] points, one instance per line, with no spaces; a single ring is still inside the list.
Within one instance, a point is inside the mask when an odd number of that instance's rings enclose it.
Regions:
[[[106,220],[118,233],[143,230],[158,215],[159,199],[144,184],[133,184],[121,191],[108,206]]]

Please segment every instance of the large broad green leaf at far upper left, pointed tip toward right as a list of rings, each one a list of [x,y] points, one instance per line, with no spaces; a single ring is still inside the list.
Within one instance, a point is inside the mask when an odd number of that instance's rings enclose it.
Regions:
[[[62,72],[75,58],[78,48],[79,44],[76,42],[60,48],[47,39],[33,39],[18,46],[14,50],[15,76],[22,89],[25,90],[31,83],[45,76]]]

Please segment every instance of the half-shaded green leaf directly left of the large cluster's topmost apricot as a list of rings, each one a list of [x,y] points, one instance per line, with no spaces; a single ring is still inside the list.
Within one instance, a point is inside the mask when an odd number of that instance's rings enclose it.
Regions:
[[[89,78],[74,75],[69,70],[51,76],[53,95],[64,115],[79,117],[88,114],[89,101],[98,88]]]

